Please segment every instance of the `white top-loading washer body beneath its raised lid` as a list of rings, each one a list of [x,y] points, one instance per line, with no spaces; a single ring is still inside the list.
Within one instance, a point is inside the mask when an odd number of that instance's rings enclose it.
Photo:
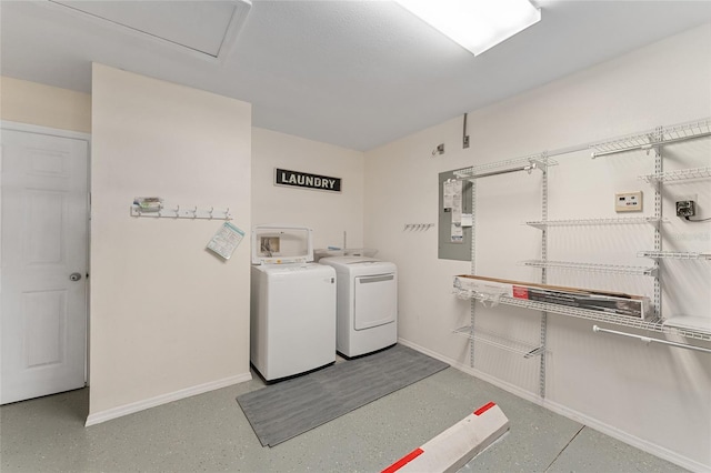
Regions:
[[[303,256],[252,256],[258,262],[251,270],[250,303],[254,369],[274,381],[334,363],[334,269]]]

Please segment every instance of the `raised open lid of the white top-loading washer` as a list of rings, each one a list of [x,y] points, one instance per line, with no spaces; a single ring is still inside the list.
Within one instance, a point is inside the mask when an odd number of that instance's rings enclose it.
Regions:
[[[313,230],[308,227],[266,224],[252,229],[252,264],[313,261]],[[277,242],[270,248],[270,242]]]

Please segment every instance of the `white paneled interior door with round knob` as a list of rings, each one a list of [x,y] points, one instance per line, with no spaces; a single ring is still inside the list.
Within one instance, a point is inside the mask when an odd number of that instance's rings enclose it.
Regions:
[[[88,143],[2,130],[0,403],[84,385]]]

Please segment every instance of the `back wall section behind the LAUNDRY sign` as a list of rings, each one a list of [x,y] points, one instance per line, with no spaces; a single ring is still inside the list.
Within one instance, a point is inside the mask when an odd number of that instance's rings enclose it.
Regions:
[[[313,229],[316,249],[363,244],[363,153],[252,129],[252,221]],[[342,191],[274,185],[274,168],[341,178]]]

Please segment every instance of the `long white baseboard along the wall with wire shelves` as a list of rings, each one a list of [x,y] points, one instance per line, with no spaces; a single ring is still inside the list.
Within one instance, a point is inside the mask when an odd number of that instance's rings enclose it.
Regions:
[[[541,399],[539,397],[537,394],[531,393],[529,391],[525,391],[517,385],[510,384],[505,381],[501,381],[494,376],[491,376],[490,374],[483,373],[479,370],[475,370],[473,368],[470,368],[463,363],[458,362],[457,360],[452,360],[450,358],[447,358],[440,353],[433,352],[429,349],[425,349],[424,346],[420,346],[417,343],[412,343],[408,340],[404,339],[398,339],[398,343],[401,343],[405,346],[409,346],[413,350],[417,350],[419,352],[422,352],[429,356],[432,356],[433,359],[443,361],[444,363],[449,363],[452,368],[455,368],[459,371],[463,371],[467,374],[470,374],[474,378],[478,378],[482,381],[485,381],[490,384],[493,384],[497,388],[500,388],[507,392],[510,392],[511,394],[514,394],[521,399],[524,399],[527,401],[530,401],[534,404],[538,404],[540,406],[543,406],[557,414],[560,414],[564,417],[568,417],[572,421],[575,422],[580,422],[581,424],[593,429],[598,432],[601,432],[605,435],[611,436],[612,439],[619,440],[620,442],[624,442],[628,445],[634,446],[635,449],[639,449],[643,452],[647,452],[651,455],[658,456],[662,460],[667,460],[668,462],[671,462],[675,465],[679,465],[681,467],[684,467],[687,470],[690,470],[692,472],[698,472],[698,473],[710,473],[711,472],[711,467],[709,465],[705,465],[703,463],[697,462],[695,460],[689,459],[688,456],[683,456],[680,455],[677,452],[673,452],[669,449],[665,449],[663,446],[660,446],[658,444],[654,444],[652,442],[645,441],[643,439],[640,439],[638,436],[631,435],[627,432],[623,432],[612,425],[605,424],[603,422],[600,422],[599,420],[591,417],[587,414],[583,414],[581,412],[578,412],[575,410],[572,410],[570,407],[567,407],[562,404],[552,402],[552,401],[548,401],[545,399]],[[495,402],[495,400],[494,400]]]

